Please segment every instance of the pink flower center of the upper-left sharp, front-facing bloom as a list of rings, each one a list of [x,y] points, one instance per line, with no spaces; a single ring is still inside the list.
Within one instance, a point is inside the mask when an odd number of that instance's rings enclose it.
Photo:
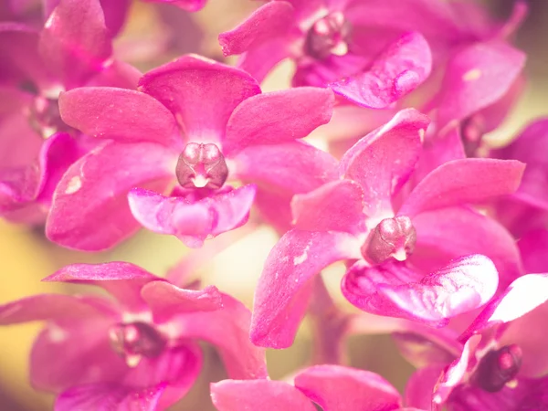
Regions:
[[[217,189],[227,181],[228,167],[215,144],[189,142],[179,155],[175,174],[184,188]]]

